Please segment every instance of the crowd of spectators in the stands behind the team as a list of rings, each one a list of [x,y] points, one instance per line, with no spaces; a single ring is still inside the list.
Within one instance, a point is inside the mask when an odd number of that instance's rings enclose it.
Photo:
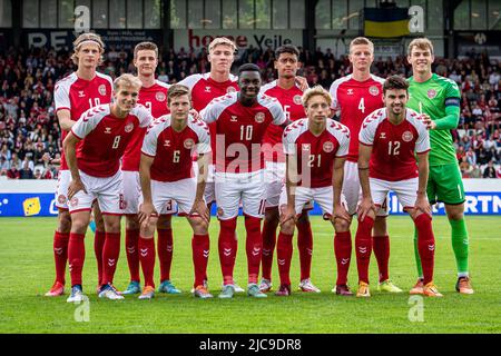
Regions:
[[[61,131],[53,108],[57,80],[76,70],[70,52],[45,48],[11,48],[0,53],[0,178],[56,179],[61,152]],[[135,72],[131,51],[110,47],[99,68],[112,78]],[[157,79],[175,83],[193,73],[209,71],[207,51],[173,49],[160,52]],[[301,50],[299,72],[311,86],[331,83],[350,73],[346,56],[336,58],[330,49]],[[265,82],[276,79],[274,51],[248,48],[234,63],[256,63]],[[461,88],[461,117],[452,130],[458,164],[464,178],[501,178],[501,69],[485,53],[471,53],[464,59],[440,59],[433,70],[458,82]],[[409,77],[404,57],[376,59],[372,72]]]

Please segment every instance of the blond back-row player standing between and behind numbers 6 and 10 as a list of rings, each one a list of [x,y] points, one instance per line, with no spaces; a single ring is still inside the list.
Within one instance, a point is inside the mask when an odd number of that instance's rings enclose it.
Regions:
[[[210,63],[210,72],[205,75],[193,75],[179,81],[179,85],[186,86],[191,90],[193,108],[200,112],[215,98],[222,97],[229,92],[238,90],[237,77],[229,73],[233,61],[235,60],[235,43],[225,37],[214,39],[208,46],[207,59]],[[210,146],[212,155],[216,152],[216,131],[215,125],[208,126],[210,129]],[[198,169],[195,168],[197,171]],[[216,200],[214,186],[215,166],[213,159],[209,160],[209,169],[207,181],[205,185],[205,201],[210,209],[213,202]],[[236,250],[237,241],[233,248]],[[209,250],[209,245],[205,246]],[[206,276],[207,281],[207,276]],[[236,291],[245,291],[239,286],[235,285]]]

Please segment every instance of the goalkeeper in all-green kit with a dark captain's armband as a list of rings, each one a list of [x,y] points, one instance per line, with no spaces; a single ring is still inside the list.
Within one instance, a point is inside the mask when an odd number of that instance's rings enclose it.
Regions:
[[[464,187],[455,157],[451,129],[458,127],[461,93],[458,85],[432,72],[433,44],[429,39],[413,40],[407,48],[407,60],[412,66],[409,78],[410,99],[407,107],[424,115],[430,129],[430,176],[428,199],[430,204],[442,201],[451,224],[452,248],[458,266],[455,289],[461,294],[473,294],[468,271],[468,230],[464,221]],[[414,250],[420,279],[411,294],[423,294],[422,267],[418,254],[418,238]]]

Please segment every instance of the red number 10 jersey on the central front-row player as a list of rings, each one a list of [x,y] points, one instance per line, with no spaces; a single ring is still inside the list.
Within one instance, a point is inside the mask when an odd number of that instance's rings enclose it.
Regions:
[[[234,174],[262,169],[261,144],[266,129],[286,121],[276,99],[259,95],[255,105],[244,107],[237,92],[214,99],[200,116],[208,123],[216,122],[216,171]]]

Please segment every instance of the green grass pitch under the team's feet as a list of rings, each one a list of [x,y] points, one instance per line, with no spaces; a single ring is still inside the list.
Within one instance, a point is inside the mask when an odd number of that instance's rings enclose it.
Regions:
[[[235,277],[245,287],[245,231],[242,222],[239,218]],[[331,293],[335,281],[333,228],[320,217],[312,217],[312,280],[322,293],[296,291],[299,268],[294,246],[291,276],[294,291],[288,298],[274,295],[266,299],[252,299],[245,295],[236,295],[232,300],[217,298],[222,277],[217,255],[218,224],[213,220],[208,278],[215,298],[195,299],[189,294],[194,275],[191,233],[186,220],[175,218],[171,279],[183,294],[157,294],[154,300],[138,300],[137,296],[128,296],[121,301],[101,300],[96,296],[94,238],[88,233],[84,290],[90,299],[89,322],[76,322],[78,306],[67,304],[66,296],[43,297],[53,281],[51,246],[56,218],[0,218],[0,333],[500,333],[500,217],[468,217],[470,269],[475,294],[462,296],[454,290],[456,274],[450,226],[444,217],[434,217],[435,283],[444,297],[424,298],[422,314],[411,309],[418,306],[410,304],[406,294],[415,283],[413,226],[409,217],[389,218],[390,275],[405,293],[385,295],[376,291],[377,269],[373,257],[370,275],[373,296],[370,299],[343,298]],[[158,277],[157,263],[157,283]],[[276,265],[273,278],[276,288]],[[352,288],[356,287],[356,280],[353,255],[350,269]],[[127,283],[128,269],[122,248],[115,284],[125,288]],[[422,315],[422,322],[411,322],[410,314]]]

